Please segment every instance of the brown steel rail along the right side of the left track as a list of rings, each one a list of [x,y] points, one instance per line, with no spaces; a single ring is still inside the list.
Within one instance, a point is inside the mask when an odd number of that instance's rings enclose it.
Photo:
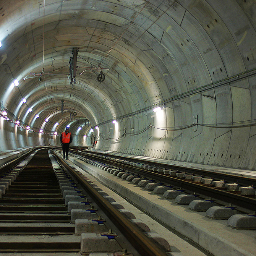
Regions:
[[[97,205],[104,211],[109,219],[117,226],[123,233],[126,239],[134,246],[134,248],[141,254],[147,256],[167,256],[167,254],[149,239],[139,228],[130,222],[122,213],[120,213],[112,204],[107,201],[99,192],[97,192],[77,170],[74,170],[68,165],[65,160],[59,157],[52,150],[52,154],[62,163],[62,165],[74,175],[74,178],[86,190]]]

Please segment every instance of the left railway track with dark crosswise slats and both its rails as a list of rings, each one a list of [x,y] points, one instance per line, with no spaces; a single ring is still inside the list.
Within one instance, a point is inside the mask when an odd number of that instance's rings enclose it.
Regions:
[[[132,224],[122,206],[55,157],[40,150],[2,170],[0,253],[167,255],[169,245],[157,245],[150,230]]]

